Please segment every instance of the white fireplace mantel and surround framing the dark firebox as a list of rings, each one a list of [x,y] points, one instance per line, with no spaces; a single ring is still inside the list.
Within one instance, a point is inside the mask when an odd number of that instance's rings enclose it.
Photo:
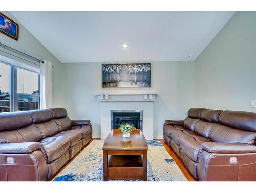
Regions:
[[[152,90],[103,90],[95,93],[101,105],[101,139],[111,131],[111,110],[142,110],[143,134],[153,139],[153,102],[157,92]]]

